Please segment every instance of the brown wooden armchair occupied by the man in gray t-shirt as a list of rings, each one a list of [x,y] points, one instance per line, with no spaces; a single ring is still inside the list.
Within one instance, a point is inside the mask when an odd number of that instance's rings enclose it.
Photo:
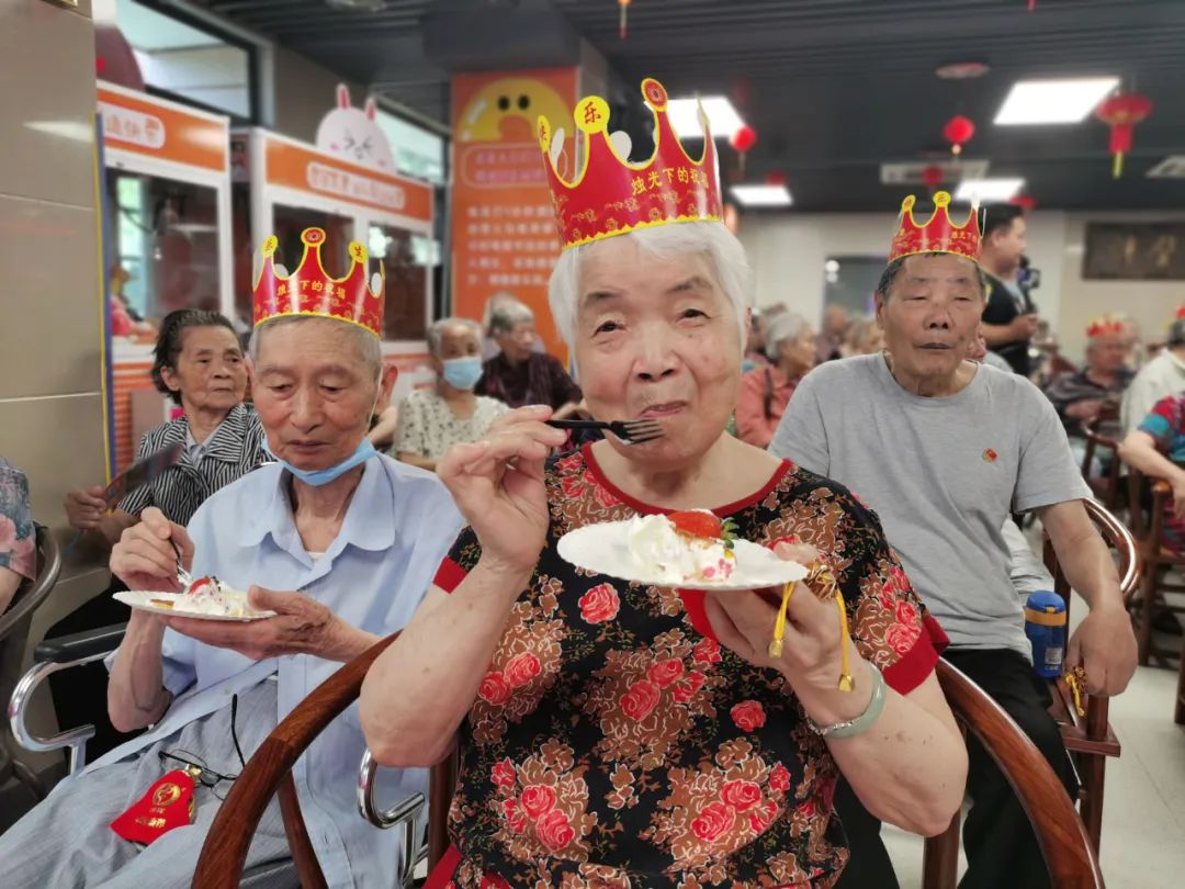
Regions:
[[[1096,500],[1084,500],[1087,514],[1095,523],[1098,533],[1119,554],[1119,588],[1123,601],[1128,602],[1140,577],[1140,558],[1135,541],[1123,523]],[[1070,583],[1057,562],[1057,554],[1049,538],[1045,539],[1045,567],[1053,576],[1053,591],[1065,601],[1066,620],[1070,616]],[[1078,805],[1082,820],[1087,825],[1090,842],[1098,851],[1103,829],[1103,779],[1107,757],[1120,755],[1119,738],[1108,721],[1109,701],[1103,697],[1087,699],[1087,715],[1078,716],[1074,706],[1074,695],[1065,682],[1050,683],[1053,704],[1050,714],[1062,731],[1062,742],[1074,760],[1078,773]]]

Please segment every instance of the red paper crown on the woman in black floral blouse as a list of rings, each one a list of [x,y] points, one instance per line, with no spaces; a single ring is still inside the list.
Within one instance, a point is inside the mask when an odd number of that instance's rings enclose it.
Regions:
[[[539,117],[539,146],[565,250],[652,225],[724,218],[716,146],[703,109],[704,155],[692,160],[671,127],[662,84],[647,77],[642,98],[654,113],[654,155],[640,165],[617,154],[609,141],[608,103],[600,96],[581,100],[572,117],[583,134],[584,168],[571,183],[556,172],[551,124]]]

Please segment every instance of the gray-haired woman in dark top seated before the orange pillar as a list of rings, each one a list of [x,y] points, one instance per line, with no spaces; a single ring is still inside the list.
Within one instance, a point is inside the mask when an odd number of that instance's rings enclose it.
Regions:
[[[556,418],[576,414],[581,388],[557,358],[536,352],[534,313],[521,302],[501,302],[489,313],[489,333],[501,351],[486,362],[480,395],[512,408],[546,404]]]

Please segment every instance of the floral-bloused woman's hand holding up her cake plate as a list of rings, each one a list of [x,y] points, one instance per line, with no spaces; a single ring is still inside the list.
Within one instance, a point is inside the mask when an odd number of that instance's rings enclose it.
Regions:
[[[811,565],[814,546],[780,543],[774,552],[789,562]],[[752,593],[709,593],[704,606],[720,644],[754,666],[781,672],[800,696],[807,690],[831,691],[840,673],[841,631],[837,600],[820,601],[801,581],[786,609],[782,654],[770,657],[769,642],[782,603],[781,589]],[[851,645],[851,642],[848,642]]]

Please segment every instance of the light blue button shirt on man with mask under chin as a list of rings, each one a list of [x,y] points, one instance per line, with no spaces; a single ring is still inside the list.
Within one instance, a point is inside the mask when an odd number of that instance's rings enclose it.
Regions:
[[[361,629],[387,635],[406,626],[460,527],[448,491],[431,473],[376,455],[346,511],[341,531],[315,562],[301,543],[277,463],[263,466],[206,500],[188,532],[194,576],[217,575],[237,589],[252,583],[300,589]],[[177,698],[150,731],[97,760],[124,759],[226,706],[231,696],[278,673],[275,723],[341,665],[307,654],[252,661],[168,629],[165,686]],[[239,717],[242,718],[242,716]],[[320,734],[293,767],[301,812],[331,887],[387,885],[396,872],[399,832],[364,821],[356,804],[365,749],[358,703]],[[378,801],[389,806],[427,794],[424,769],[383,770]]]

